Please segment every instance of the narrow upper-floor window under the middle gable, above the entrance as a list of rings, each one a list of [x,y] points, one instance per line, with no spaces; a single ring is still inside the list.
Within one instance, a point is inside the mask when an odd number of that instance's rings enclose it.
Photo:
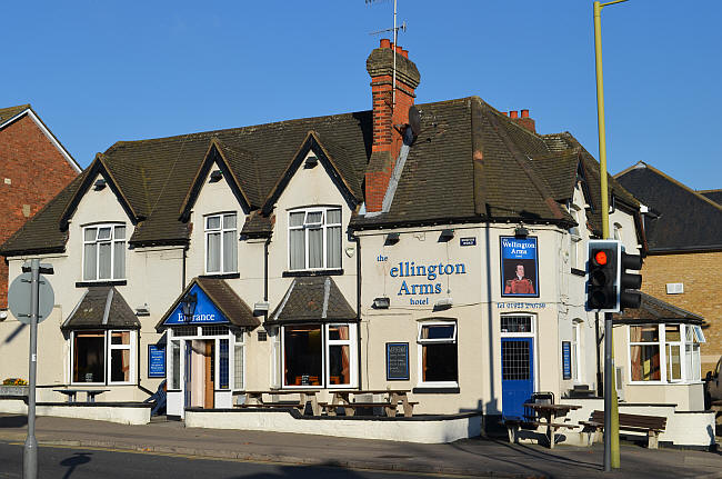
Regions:
[[[235,213],[205,217],[205,272],[235,272]]]

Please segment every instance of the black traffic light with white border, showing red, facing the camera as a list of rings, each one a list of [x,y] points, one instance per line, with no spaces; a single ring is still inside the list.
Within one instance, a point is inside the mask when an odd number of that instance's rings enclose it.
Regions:
[[[619,241],[590,240],[586,267],[586,310],[619,311]]]

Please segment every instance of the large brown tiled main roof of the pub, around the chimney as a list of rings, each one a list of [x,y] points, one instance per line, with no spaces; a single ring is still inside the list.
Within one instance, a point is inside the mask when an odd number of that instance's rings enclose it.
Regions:
[[[354,214],[352,228],[480,220],[569,227],[573,219],[560,202],[573,193],[574,151],[580,151],[590,181],[596,178],[598,182],[596,161],[569,133],[531,132],[478,97],[419,104],[418,109],[421,133],[410,149],[389,211],[373,218]],[[293,162],[309,141],[320,149],[324,168],[347,191],[344,198],[352,209],[363,200],[371,127],[371,112],[362,111],[119,141],[93,164],[102,164],[122,193],[127,211],[136,216],[131,245],[183,243],[189,240],[189,224],[181,210],[192,197],[192,184],[213,143],[251,212],[257,211],[243,233],[268,236],[274,191],[293,171]],[[60,216],[66,210],[72,213],[84,192],[76,194],[83,178],[0,247],[0,253],[62,251],[67,232]],[[631,198],[614,181],[611,184],[615,194]]]

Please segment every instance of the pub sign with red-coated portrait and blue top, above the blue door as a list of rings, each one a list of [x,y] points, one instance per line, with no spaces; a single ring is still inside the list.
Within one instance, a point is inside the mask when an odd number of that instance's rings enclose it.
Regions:
[[[501,296],[539,298],[537,238],[501,237]]]

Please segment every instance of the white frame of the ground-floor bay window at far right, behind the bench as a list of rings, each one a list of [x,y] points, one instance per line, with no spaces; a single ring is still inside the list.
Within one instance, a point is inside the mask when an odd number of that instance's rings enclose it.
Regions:
[[[679,341],[668,341],[666,340],[666,326],[668,325],[679,325],[680,326],[680,340]],[[632,327],[634,326],[656,326],[658,328],[658,333],[659,333],[659,342],[632,342],[631,337],[632,337]],[[686,339],[686,331],[688,329],[692,330],[692,342],[688,341]],[[700,341],[700,336],[702,341]],[[695,342],[694,339],[698,339]],[[701,358],[699,353],[699,345],[701,345],[704,341],[704,335],[702,335],[702,330],[699,326],[696,325],[689,325],[689,323],[683,323],[683,322],[663,322],[659,325],[653,325],[653,323],[644,323],[640,322],[639,325],[629,325],[626,328],[626,367],[629,372],[629,385],[695,385],[695,383],[701,383]],[[633,346],[650,346],[650,345],[659,345],[660,347],[660,380],[654,380],[654,381],[633,381],[632,380],[632,347]],[[699,373],[692,372],[692,377],[689,377],[688,375],[688,355],[686,355],[686,347],[691,346],[692,350],[694,350],[694,345],[698,345],[698,352],[695,353],[692,351],[692,359],[694,359],[694,355],[699,358],[696,361],[696,366],[693,365],[693,367],[696,367],[696,369],[700,370]],[[680,347],[680,379],[668,379],[668,362],[669,362],[669,351],[670,351],[670,346],[679,346]]]

